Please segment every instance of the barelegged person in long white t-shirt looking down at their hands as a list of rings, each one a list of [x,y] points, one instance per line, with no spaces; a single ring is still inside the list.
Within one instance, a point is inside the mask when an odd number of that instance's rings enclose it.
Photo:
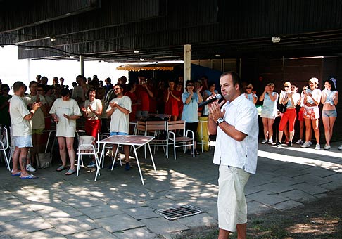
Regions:
[[[56,122],[56,137],[58,139],[59,153],[61,155],[62,165],[56,169],[60,172],[66,169],[66,150],[70,158],[70,169],[65,175],[75,174],[75,150],[74,138],[76,131],[76,120],[82,113],[77,101],[70,98],[69,89],[63,88],[61,98],[56,99],[49,112]]]

